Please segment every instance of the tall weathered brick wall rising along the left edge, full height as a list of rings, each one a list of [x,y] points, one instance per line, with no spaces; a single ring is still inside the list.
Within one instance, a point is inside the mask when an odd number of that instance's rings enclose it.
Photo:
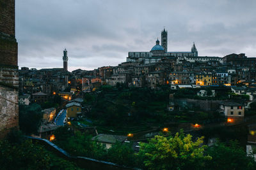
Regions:
[[[0,138],[19,127],[15,0],[0,0]]]

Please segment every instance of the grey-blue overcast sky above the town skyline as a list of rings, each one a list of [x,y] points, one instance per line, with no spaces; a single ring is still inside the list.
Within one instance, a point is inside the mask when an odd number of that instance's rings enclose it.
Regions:
[[[168,31],[168,51],[256,57],[256,1],[17,0],[19,66],[68,71],[116,66],[128,52],[148,52]]]

